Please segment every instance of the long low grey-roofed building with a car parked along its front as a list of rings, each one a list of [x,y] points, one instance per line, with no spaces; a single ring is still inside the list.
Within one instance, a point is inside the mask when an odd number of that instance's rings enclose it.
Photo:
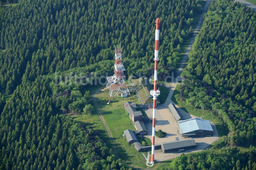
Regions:
[[[196,142],[194,139],[188,140],[178,140],[173,142],[161,143],[161,148],[164,153],[167,152],[177,152],[179,149],[194,149],[196,147]]]

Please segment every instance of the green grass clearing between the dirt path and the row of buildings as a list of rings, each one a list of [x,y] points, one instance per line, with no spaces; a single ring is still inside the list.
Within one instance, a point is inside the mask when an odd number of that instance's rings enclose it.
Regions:
[[[124,108],[126,101],[132,101],[139,104],[135,92],[132,92],[131,98],[114,97],[108,105],[108,92],[99,91],[95,97],[99,110],[102,112],[102,116],[106,124],[108,125],[116,145],[116,151],[118,156],[128,165],[134,168],[146,168],[146,160],[141,152],[137,152],[134,145],[129,145],[126,139],[122,136],[123,131],[126,129],[135,130],[132,120],[129,114]],[[146,152],[144,152],[147,155]]]

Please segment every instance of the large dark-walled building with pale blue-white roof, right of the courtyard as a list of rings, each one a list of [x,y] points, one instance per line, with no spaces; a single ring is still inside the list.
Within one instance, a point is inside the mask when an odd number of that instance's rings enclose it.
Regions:
[[[178,122],[178,127],[182,137],[213,135],[210,121],[197,117]]]

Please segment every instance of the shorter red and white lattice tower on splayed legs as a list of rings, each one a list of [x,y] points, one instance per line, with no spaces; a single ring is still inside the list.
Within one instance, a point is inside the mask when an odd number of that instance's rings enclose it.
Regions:
[[[119,95],[119,93],[130,95],[130,92],[125,84],[124,81],[124,65],[122,63],[122,49],[121,49],[121,43],[119,47],[115,47],[115,70],[113,76],[108,76],[108,84],[103,90],[109,89],[109,102],[111,101],[111,97],[115,95]]]

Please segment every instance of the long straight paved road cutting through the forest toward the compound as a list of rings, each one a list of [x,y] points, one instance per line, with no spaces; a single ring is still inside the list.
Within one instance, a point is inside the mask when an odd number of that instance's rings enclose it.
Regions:
[[[190,50],[191,50],[192,44],[193,44],[193,42],[195,41],[195,37],[196,37],[196,35],[197,35],[198,31],[199,31],[199,28],[200,28],[200,26],[201,26],[201,23],[202,23],[202,21],[203,21],[203,16],[204,16],[204,14],[205,14],[205,12],[206,12],[206,10],[207,10],[209,4],[211,3],[211,1],[212,1],[212,0],[206,1],[206,4],[205,4],[205,7],[204,7],[204,9],[203,9],[203,11],[202,11],[201,17],[200,17],[200,19],[199,19],[199,21],[198,21],[198,24],[197,24],[197,26],[196,26],[196,29],[195,29],[195,31],[194,31],[194,33],[193,33],[193,37],[192,37],[192,39],[191,39],[191,41],[190,41],[190,43],[189,43],[189,45],[188,45],[187,51],[186,51],[186,53],[185,53],[185,55],[184,55],[184,58],[183,58],[183,60],[182,60],[182,62],[181,62],[181,64],[180,64],[180,67],[178,68],[178,70],[177,70],[177,72],[176,72],[176,76],[180,76],[180,74],[181,74],[181,72],[182,72],[182,70],[183,70],[183,68],[184,68],[184,66],[185,66],[185,63],[186,63],[187,58],[188,58],[188,54],[189,54],[189,52],[190,52]],[[241,0],[241,1],[244,1],[244,0]]]

